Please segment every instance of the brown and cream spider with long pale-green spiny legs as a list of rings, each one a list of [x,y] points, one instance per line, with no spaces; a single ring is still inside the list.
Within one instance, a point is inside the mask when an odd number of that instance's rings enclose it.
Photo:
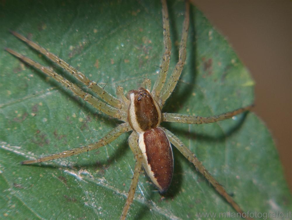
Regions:
[[[31,164],[38,162],[45,162],[58,158],[77,155],[80,153],[88,152],[90,150],[98,149],[105,146],[121,134],[132,131],[128,143],[135,155],[135,169],[133,179],[131,181],[130,190],[127,195],[126,203],[121,214],[121,219],[126,219],[127,212],[133,202],[136,186],[138,183],[139,175],[142,167],[147,175],[150,177],[154,185],[158,188],[160,193],[164,193],[170,183],[173,176],[173,153],[171,144],[175,146],[184,157],[194,164],[197,171],[199,171],[209,183],[218,191],[239,213],[243,213],[241,208],[234,202],[233,198],[225,191],[221,186],[204,168],[203,164],[197,159],[197,157],[186,147],[186,145],[178,139],[173,133],[160,126],[161,122],[179,122],[187,124],[203,124],[212,123],[219,120],[224,120],[233,117],[234,115],[248,111],[253,105],[249,105],[244,108],[239,108],[232,112],[223,113],[218,116],[211,117],[199,117],[189,116],[174,113],[162,113],[163,106],[166,100],[171,96],[171,93],[175,89],[178,79],[183,70],[183,66],[186,59],[186,43],[189,29],[189,3],[186,2],[185,6],[185,20],[183,22],[182,38],[179,48],[179,60],[176,64],[172,74],[166,80],[168,73],[168,66],[170,62],[171,54],[171,40],[168,21],[168,10],[166,1],[162,0],[162,21],[164,29],[164,55],[161,60],[160,71],[157,76],[157,80],[151,90],[151,82],[149,79],[145,79],[142,82],[141,87],[128,92],[127,96],[124,95],[124,90],[121,86],[117,87],[117,98],[109,94],[104,88],[97,83],[89,80],[84,74],[76,70],[74,67],[60,59],[53,53],[48,52],[45,48],[30,41],[24,36],[12,32],[13,35],[26,42],[29,46],[36,49],[51,61],[71,73],[77,80],[91,89],[96,96],[92,96],[89,93],[84,92],[75,84],[69,82],[67,79],[60,76],[53,70],[36,63],[28,57],[25,57],[10,48],[6,48],[6,51],[20,58],[23,62],[41,70],[46,75],[52,77],[56,81],[60,82],[63,86],[71,90],[75,95],[81,97],[84,101],[90,103],[99,111],[123,121],[111,131],[109,131],[98,142],[89,144],[81,148],[74,148],[72,150],[66,150],[61,153],[41,157],[34,160],[23,161],[22,164]],[[151,91],[150,91],[151,90]],[[159,151],[157,151],[157,148]],[[160,162],[159,162],[160,161]],[[161,162],[162,161],[162,162]],[[160,168],[162,167],[162,168]]]

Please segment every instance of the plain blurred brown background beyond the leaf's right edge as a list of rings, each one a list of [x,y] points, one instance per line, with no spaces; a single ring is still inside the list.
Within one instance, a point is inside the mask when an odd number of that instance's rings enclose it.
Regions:
[[[255,82],[254,112],[274,137],[290,190],[291,1],[193,0],[227,37]]]

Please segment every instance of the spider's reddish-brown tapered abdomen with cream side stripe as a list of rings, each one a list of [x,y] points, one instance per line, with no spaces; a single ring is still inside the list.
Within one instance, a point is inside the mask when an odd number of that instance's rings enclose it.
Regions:
[[[139,148],[143,155],[143,168],[151,181],[164,193],[173,176],[171,143],[161,128],[149,129],[139,134]]]

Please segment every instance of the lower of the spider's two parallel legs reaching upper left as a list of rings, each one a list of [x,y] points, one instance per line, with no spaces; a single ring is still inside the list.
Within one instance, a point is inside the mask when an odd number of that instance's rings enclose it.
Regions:
[[[68,81],[64,77],[60,76],[58,73],[54,72],[53,70],[48,69],[47,67],[42,66],[41,64],[31,60],[30,58],[28,58],[26,56],[23,56],[20,53],[17,53],[15,51],[11,50],[10,48],[6,48],[6,51],[8,51],[9,53],[11,53],[14,56],[18,57],[23,62],[28,63],[29,65],[41,70],[46,75],[52,77],[56,81],[60,82],[65,87],[70,89],[75,95],[77,95],[80,98],[82,98],[83,100],[87,101],[88,103],[93,105],[95,108],[97,108],[101,112],[103,112],[103,113],[105,113],[105,114],[107,114],[109,116],[112,116],[114,118],[126,121],[126,119],[127,119],[127,113],[126,112],[121,111],[121,110],[119,110],[117,108],[114,108],[114,107],[112,107],[112,106],[100,101],[98,98],[93,97],[91,94],[88,94],[88,93],[82,91],[78,86],[76,86],[75,84],[71,83],[70,81]]]

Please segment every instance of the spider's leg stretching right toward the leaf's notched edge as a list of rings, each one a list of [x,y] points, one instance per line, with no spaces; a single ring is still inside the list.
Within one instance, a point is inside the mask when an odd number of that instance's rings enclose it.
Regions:
[[[234,115],[238,115],[242,112],[249,111],[254,105],[248,105],[244,108],[236,109],[232,112],[226,112],[220,115],[210,116],[210,117],[200,117],[200,116],[191,116],[191,115],[182,115],[175,113],[163,113],[162,120],[164,122],[179,122],[186,124],[205,124],[205,123],[213,123],[221,120],[225,120],[233,117]]]

